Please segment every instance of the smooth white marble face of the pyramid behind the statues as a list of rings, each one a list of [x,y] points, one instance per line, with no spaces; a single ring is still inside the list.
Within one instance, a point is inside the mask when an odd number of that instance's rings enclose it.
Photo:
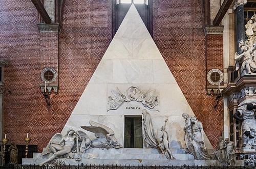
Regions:
[[[156,90],[159,111],[147,109],[156,135],[159,138],[162,122],[168,118],[166,130],[170,135],[170,146],[185,148],[182,114],[186,112],[195,116],[194,112],[134,5],[127,12],[61,133],[65,134],[69,128],[81,130],[80,126],[90,125],[92,120],[112,128],[118,142],[123,145],[124,116],[141,116],[142,109],[146,108],[133,100],[122,103],[116,110],[107,111],[108,96],[117,87],[126,91],[131,86],[138,87],[143,93],[149,89]],[[87,134],[95,137],[94,133]],[[207,136],[205,145],[212,148]]]

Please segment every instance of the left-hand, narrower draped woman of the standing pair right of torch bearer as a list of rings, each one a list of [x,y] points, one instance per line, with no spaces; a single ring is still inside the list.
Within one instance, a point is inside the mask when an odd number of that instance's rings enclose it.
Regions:
[[[185,127],[183,128],[185,135],[184,140],[186,142],[187,152],[194,155],[194,147],[192,145],[192,123],[190,120],[190,116],[188,114],[183,113],[182,117],[185,119]]]

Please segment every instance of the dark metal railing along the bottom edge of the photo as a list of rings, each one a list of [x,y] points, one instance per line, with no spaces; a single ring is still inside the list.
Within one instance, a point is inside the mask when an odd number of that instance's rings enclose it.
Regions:
[[[189,166],[189,165],[5,165],[0,166],[4,169],[242,169],[242,168],[255,168],[253,166]]]

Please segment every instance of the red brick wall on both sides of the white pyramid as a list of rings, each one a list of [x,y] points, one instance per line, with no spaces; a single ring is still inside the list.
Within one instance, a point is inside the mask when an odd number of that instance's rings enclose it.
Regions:
[[[58,60],[57,35],[39,33],[38,13],[32,2],[0,2],[0,57],[9,61],[5,69],[4,133],[10,140],[25,144],[29,132],[31,144],[41,151],[51,136],[62,130],[111,42],[111,2],[65,1]],[[216,146],[223,130],[223,105],[221,100],[218,110],[213,108],[215,97],[206,95],[206,74],[208,69],[223,67],[222,36],[205,37],[200,1],[156,0],[153,13],[154,40]],[[59,90],[52,96],[50,109],[39,88],[40,73],[46,65],[58,67]]]

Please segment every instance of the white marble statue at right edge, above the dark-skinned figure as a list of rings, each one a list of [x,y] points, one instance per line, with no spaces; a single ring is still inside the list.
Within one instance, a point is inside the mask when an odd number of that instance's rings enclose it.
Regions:
[[[241,49],[243,51],[242,54],[235,54],[234,60],[236,60],[236,70],[239,69],[239,63],[242,63],[241,66],[241,74],[251,74],[254,71],[256,71],[256,65],[255,62],[253,62],[252,57],[254,57],[254,51],[256,49],[256,44],[253,44],[251,48],[248,48],[247,46],[243,45],[241,46]]]

